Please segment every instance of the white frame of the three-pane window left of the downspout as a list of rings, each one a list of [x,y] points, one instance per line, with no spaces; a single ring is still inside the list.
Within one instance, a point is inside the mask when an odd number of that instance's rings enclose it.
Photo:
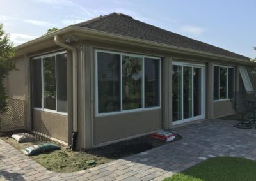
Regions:
[[[42,91],[42,100],[41,100],[41,106],[42,108],[37,108],[33,106],[33,110],[40,110],[42,112],[49,112],[49,113],[56,113],[56,114],[60,114],[60,115],[68,115],[67,112],[58,112],[57,108],[58,108],[58,91],[57,91],[57,59],[56,59],[56,55],[60,55],[60,54],[67,54],[67,51],[61,51],[61,52],[56,52],[56,53],[51,53],[51,54],[45,54],[45,55],[41,55],[41,56],[36,56],[36,57],[32,57],[31,61],[35,60],[35,59],[40,59],[41,61],[41,91]],[[47,108],[44,108],[44,58],[47,57],[55,57],[55,82],[56,82],[56,110],[50,110]],[[33,92],[32,92],[33,94]]]

